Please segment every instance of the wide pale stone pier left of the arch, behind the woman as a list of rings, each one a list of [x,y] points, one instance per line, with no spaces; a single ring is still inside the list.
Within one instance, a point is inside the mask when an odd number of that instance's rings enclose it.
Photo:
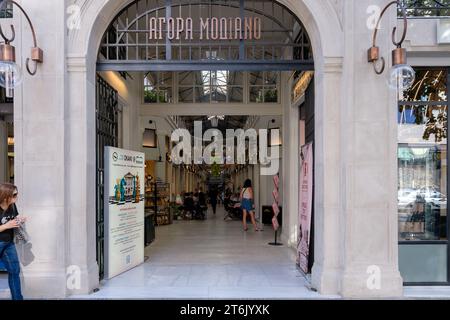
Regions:
[[[27,74],[24,63],[30,55],[31,33],[27,20],[14,10],[18,32],[14,44],[17,62],[24,70],[24,82],[15,90],[14,100],[16,184],[19,210],[29,217],[27,225],[35,256],[22,270],[22,286],[26,298],[60,298],[67,293],[67,249],[71,236],[67,222],[77,214],[68,210],[71,194],[66,180],[70,132],[66,131],[65,120],[65,1],[20,3],[33,21],[45,59],[34,77]],[[86,188],[86,184],[83,186]],[[77,241],[81,242],[81,237]]]

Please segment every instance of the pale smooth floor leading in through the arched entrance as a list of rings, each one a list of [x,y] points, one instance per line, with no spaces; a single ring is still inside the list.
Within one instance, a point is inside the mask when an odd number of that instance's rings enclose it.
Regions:
[[[175,221],[157,227],[145,264],[102,281],[90,299],[320,298],[306,288],[294,251],[272,247],[273,230],[242,230],[224,221],[224,209],[206,221]],[[250,225],[249,225],[250,227]]]

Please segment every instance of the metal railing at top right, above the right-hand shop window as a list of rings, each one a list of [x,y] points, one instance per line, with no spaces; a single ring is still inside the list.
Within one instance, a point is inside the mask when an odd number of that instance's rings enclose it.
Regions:
[[[406,8],[408,17],[450,17],[450,0],[401,0],[401,2]]]

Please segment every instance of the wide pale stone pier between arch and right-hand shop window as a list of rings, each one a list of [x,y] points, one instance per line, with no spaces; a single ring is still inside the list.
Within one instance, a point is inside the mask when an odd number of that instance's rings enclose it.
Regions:
[[[387,0],[345,1],[345,57],[341,117],[343,224],[341,231],[345,297],[402,295],[398,270],[397,101],[386,78],[391,63],[391,30],[397,22],[392,6],[383,20],[378,45],[386,58],[382,76],[367,63],[373,30],[369,6]],[[371,276],[371,272],[374,274]],[[377,282],[379,280],[379,286]]]

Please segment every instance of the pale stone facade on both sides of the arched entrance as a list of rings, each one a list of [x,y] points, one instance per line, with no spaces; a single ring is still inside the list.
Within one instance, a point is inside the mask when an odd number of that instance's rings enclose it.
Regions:
[[[36,260],[24,268],[27,297],[61,298],[98,286],[95,248],[95,73],[109,22],[131,1],[22,0],[45,62],[16,90],[16,181],[20,209],[30,216]],[[315,265],[312,285],[344,297],[402,295],[397,239],[397,115],[395,95],[367,63],[372,30],[367,8],[387,0],[279,0],[305,25],[312,41],[316,88]],[[68,30],[67,7],[78,5],[79,29]],[[30,47],[23,17],[15,23],[24,62]],[[384,26],[396,24],[395,10]],[[390,28],[379,34],[389,56]],[[411,42],[413,45],[414,42]],[[134,117],[136,118],[136,117]],[[298,110],[283,110],[286,146],[284,230],[298,211]],[[138,121],[130,120],[130,121]],[[286,134],[287,133],[287,134]],[[132,147],[132,146],[130,146]],[[288,242],[289,235],[283,235]],[[292,242],[292,241],[289,241]],[[81,270],[81,288],[66,285],[67,268]],[[370,266],[381,287],[367,286]]]

